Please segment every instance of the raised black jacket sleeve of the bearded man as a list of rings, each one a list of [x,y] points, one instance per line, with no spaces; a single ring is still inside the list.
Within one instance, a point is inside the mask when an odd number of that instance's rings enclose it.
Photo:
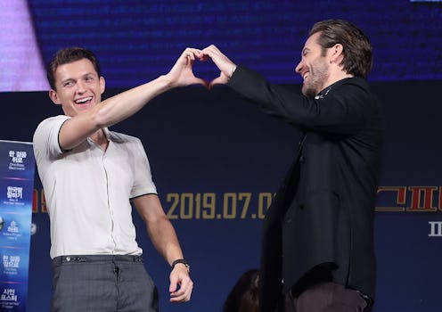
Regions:
[[[351,135],[375,114],[376,104],[363,78],[348,78],[332,85],[320,98],[307,97],[271,84],[258,73],[238,66],[230,86],[266,113],[307,131]]]

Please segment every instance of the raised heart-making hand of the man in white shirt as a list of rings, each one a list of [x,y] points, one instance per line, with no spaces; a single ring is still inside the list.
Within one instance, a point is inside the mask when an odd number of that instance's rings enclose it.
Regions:
[[[190,47],[184,50],[174,67],[166,75],[171,86],[208,85],[206,81],[193,75],[192,66],[197,55],[201,55],[201,50]]]

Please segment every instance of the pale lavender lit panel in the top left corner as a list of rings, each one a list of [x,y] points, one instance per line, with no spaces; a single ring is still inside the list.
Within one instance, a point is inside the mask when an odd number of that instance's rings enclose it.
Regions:
[[[26,0],[0,4],[0,92],[48,90]]]

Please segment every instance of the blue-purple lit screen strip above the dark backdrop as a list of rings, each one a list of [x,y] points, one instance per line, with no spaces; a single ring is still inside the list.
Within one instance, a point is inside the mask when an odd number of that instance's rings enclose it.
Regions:
[[[70,45],[92,49],[109,87],[136,86],[170,69],[185,47],[215,44],[275,83],[293,74],[308,29],[355,22],[374,46],[374,81],[442,79],[442,2],[408,0],[29,0],[43,60]],[[0,4],[1,5],[1,4]],[[213,78],[211,64],[199,64]]]

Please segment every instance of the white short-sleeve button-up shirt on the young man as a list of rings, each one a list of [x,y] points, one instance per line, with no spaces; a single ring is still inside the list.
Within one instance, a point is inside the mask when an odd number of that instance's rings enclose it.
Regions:
[[[104,128],[109,139],[105,152],[91,139],[62,152],[58,135],[67,119],[43,120],[33,139],[51,221],[51,258],[142,254],[129,199],[157,193],[143,144]]]

